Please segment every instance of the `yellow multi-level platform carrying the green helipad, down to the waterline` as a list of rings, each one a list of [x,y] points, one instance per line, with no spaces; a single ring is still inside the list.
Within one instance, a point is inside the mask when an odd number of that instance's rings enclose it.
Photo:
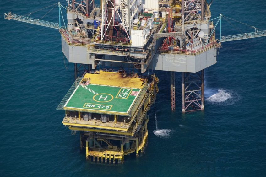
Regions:
[[[63,125],[73,134],[80,131],[86,159],[122,164],[125,155],[144,151],[147,111],[157,84],[154,75],[147,78],[114,70],[85,72],[77,78],[57,109],[66,111]]]

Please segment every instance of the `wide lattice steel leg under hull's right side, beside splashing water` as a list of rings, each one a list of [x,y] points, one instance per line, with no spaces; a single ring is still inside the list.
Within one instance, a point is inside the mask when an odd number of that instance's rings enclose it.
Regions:
[[[204,70],[182,72],[182,112],[204,110]]]

